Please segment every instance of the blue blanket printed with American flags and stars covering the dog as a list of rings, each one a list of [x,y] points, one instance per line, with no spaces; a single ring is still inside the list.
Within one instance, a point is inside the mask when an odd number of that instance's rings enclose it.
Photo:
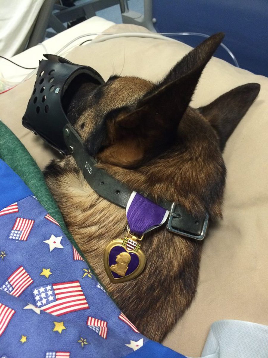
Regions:
[[[3,161],[0,173],[0,357],[183,357],[138,332]]]

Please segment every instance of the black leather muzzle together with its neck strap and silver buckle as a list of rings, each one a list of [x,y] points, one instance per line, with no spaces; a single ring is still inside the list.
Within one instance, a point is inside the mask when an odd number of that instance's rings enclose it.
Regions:
[[[63,57],[44,55],[47,60],[39,63],[34,90],[23,116],[23,125],[40,135],[61,154],[73,155],[90,187],[101,197],[126,208],[132,190],[105,170],[96,167],[96,161],[86,153],[80,136],[62,107],[62,98],[74,78],[87,78],[89,82],[103,84],[105,81],[93,68],[71,63]],[[149,198],[150,199],[150,198]],[[167,229],[189,238],[203,240],[208,226],[208,215],[196,219],[175,203],[160,200],[158,205],[170,214]]]

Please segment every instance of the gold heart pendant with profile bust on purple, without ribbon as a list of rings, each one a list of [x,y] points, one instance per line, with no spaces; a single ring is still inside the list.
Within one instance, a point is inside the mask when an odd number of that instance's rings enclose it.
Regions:
[[[145,262],[145,255],[135,236],[111,241],[104,252],[105,271],[114,284],[132,280],[140,275]]]

